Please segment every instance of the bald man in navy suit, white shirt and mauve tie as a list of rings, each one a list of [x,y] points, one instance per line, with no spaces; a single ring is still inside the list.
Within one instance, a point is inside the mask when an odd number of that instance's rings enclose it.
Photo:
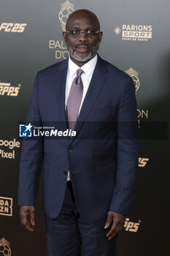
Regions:
[[[23,140],[20,219],[34,231],[44,160],[48,255],[81,255],[82,244],[84,256],[113,256],[131,211],[138,165],[134,83],[98,56],[102,32],[93,12],[73,12],[63,38],[69,58],[38,72],[27,120],[42,126],[58,121],[66,130],[77,109],[76,136]]]

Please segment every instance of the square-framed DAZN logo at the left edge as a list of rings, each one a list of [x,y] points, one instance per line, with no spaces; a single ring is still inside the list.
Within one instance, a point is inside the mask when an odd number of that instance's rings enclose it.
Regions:
[[[12,217],[12,198],[0,197],[0,215]]]

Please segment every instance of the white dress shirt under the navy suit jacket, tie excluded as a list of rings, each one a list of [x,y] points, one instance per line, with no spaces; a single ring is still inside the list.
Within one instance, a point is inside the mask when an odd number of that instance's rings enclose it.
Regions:
[[[83,84],[83,92],[82,92],[82,101],[81,101],[81,104],[80,104],[80,109],[82,108],[82,103],[85,99],[85,94],[88,91],[88,86],[90,84],[90,80],[92,78],[93,71],[96,67],[97,58],[98,58],[98,56],[96,55],[96,56],[93,57],[93,59],[90,59],[90,61],[88,61],[82,67],[79,67],[69,57],[69,66],[68,66],[67,76],[66,76],[65,109],[66,109],[66,104],[67,104],[67,100],[68,100],[68,97],[69,97],[69,91],[70,91],[71,86],[72,86],[72,81],[77,76],[77,69],[80,69],[80,68],[83,70],[83,73],[81,75],[82,84]],[[80,109],[79,109],[79,113],[80,113]],[[70,180],[70,175],[68,173],[67,181],[69,181],[69,180]]]

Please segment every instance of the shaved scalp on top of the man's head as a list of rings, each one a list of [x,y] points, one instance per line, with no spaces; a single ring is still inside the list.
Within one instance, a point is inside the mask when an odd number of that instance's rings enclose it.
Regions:
[[[69,30],[73,23],[76,25],[77,21],[80,19],[86,21],[86,23],[93,24],[94,29],[100,30],[100,23],[97,16],[90,10],[85,9],[76,10],[69,15],[66,21],[66,30]]]

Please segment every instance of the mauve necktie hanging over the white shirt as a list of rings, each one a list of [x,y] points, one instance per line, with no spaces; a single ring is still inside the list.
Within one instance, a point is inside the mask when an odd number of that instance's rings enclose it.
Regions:
[[[71,89],[69,91],[69,98],[66,105],[66,114],[69,121],[69,129],[74,129],[77,116],[80,109],[80,104],[82,101],[82,91],[83,84],[81,75],[83,73],[82,69],[77,69],[77,76],[72,82]]]

